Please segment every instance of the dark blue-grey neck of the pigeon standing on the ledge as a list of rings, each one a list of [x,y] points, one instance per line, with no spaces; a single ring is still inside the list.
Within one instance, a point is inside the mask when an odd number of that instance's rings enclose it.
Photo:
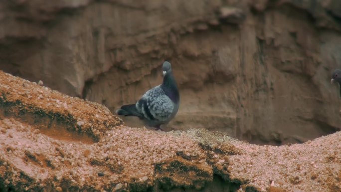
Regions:
[[[174,103],[179,102],[179,90],[177,89],[177,85],[171,71],[165,75],[161,88]]]

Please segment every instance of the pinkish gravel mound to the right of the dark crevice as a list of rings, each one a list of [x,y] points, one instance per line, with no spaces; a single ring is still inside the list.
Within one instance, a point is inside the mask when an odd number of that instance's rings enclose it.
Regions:
[[[173,131],[197,141],[206,161],[223,179],[241,184],[240,192],[339,192],[341,132],[304,144],[259,146],[205,129]]]

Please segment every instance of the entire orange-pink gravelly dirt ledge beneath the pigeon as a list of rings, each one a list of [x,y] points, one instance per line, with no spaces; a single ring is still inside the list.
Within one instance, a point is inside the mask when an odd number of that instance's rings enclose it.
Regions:
[[[199,191],[218,181],[239,192],[341,188],[341,132],[258,146],[205,129],[127,127],[99,104],[2,72],[0,91],[4,191]]]

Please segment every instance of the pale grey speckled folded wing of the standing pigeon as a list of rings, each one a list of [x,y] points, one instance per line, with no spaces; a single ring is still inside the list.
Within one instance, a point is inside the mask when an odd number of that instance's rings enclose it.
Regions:
[[[159,85],[147,91],[136,103],[136,108],[146,119],[162,122],[171,116],[174,104]]]

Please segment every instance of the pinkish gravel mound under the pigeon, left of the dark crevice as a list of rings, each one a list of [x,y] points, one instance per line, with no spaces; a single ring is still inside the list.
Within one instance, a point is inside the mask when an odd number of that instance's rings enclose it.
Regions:
[[[66,180],[71,183],[65,188],[108,190],[119,183],[152,186],[159,175],[166,177],[163,171],[155,173],[160,170],[155,166],[160,167],[160,163],[173,165],[178,152],[197,158],[193,177],[196,172],[205,176],[202,180],[213,177],[205,164],[204,151],[186,137],[176,138],[164,132],[122,126],[106,131],[98,143],[85,144],[48,137],[14,118],[0,120],[0,125],[5,127],[5,133],[0,135],[0,150],[5,153],[0,160],[20,169],[34,181],[53,181],[55,187],[63,190],[66,190],[63,187]],[[181,169],[186,166],[188,163],[183,163]],[[0,174],[5,175],[1,171]],[[11,185],[17,184],[17,179],[11,180]],[[189,181],[192,179],[188,178]],[[27,186],[28,189],[34,187],[34,183]]]

